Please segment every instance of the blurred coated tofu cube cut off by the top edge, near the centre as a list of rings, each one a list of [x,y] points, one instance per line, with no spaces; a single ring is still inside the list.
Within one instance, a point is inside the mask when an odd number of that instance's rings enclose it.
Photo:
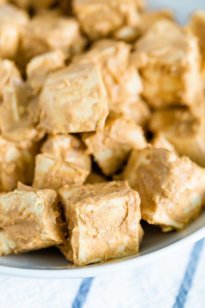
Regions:
[[[72,6],[83,31],[90,40],[95,40],[122,26],[137,26],[143,4],[138,0],[74,0]]]

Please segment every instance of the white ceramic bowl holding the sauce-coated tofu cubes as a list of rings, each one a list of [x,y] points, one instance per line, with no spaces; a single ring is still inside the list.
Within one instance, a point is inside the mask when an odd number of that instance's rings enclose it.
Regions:
[[[195,9],[205,9],[204,0],[150,0],[152,8],[171,7],[180,23],[187,21]],[[109,261],[84,267],[71,266],[56,248],[42,249],[24,255],[0,257],[0,273],[33,278],[82,278],[107,274],[112,271],[156,260],[164,255],[182,249],[205,237],[205,211],[181,232],[162,233],[160,228],[146,223],[143,225],[145,236],[140,253],[118,261]]]

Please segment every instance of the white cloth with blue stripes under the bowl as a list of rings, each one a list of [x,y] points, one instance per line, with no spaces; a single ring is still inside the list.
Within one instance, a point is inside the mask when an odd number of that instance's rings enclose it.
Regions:
[[[204,308],[205,244],[140,268],[84,279],[0,276],[1,308]]]

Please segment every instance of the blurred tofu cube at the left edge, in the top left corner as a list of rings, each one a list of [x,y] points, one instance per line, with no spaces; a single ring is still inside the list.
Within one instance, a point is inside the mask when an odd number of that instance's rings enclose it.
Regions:
[[[14,59],[19,45],[20,31],[29,21],[26,11],[11,4],[0,6],[0,57]]]

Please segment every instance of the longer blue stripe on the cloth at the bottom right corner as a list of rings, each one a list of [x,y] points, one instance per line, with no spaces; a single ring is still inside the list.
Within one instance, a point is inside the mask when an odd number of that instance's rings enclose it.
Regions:
[[[176,297],[173,308],[183,308],[187,299],[187,294],[192,284],[193,276],[195,274],[197,262],[199,260],[200,253],[203,248],[204,238],[196,242],[190,255],[190,260],[187,265],[187,269],[179,288],[179,293]]]

